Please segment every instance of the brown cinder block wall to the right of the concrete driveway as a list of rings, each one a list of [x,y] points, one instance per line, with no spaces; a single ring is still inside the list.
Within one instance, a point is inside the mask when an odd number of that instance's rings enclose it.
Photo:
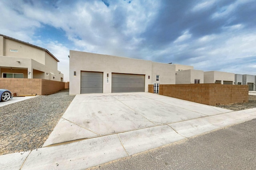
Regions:
[[[159,94],[211,106],[249,101],[247,85],[160,84]]]

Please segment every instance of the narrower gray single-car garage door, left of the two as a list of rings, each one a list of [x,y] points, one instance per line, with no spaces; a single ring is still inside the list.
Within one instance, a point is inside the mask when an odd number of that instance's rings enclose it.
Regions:
[[[81,72],[81,94],[103,93],[103,72]]]

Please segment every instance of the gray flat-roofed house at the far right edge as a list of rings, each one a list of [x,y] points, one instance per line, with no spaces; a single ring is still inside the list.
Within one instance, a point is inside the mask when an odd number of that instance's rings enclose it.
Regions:
[[[249,90],[256,90],[256,76],[248,74],[235,74],[235,84],[248,85]]]

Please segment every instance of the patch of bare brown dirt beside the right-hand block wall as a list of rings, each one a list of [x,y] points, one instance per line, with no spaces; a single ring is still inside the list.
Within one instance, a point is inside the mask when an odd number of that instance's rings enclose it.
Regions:
[[[248,103],[225,104],[225,105],[219,105],[216,107],[221,107],[224,109],[230,109],[234,111],[254,108],[256,107],[256,96],[249,95]]]

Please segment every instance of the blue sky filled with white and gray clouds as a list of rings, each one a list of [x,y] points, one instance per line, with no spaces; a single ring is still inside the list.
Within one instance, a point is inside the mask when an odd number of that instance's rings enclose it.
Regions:
[[[0,34],[69,50],[256,75],[255,0],[0,0]]]

